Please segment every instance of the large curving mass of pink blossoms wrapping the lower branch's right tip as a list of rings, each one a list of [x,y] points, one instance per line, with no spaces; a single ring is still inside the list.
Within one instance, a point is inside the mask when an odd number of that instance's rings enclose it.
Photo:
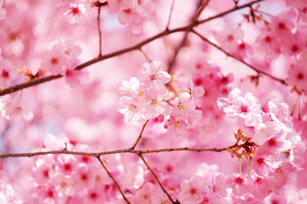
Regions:
[[[226,150],[239,162],[249,161],[249,164],[245,162],[248,174],[212,175],[211,182],[207,176],[195,175],[181,183],[178,194],[181,203],[257,203],[264,200],[273,203],[270,200],[276,199],[280,189],[294,179],[304,163],[302,154],[306,147],[300,136],[287,134],[292,132],[292,123],[287,119],[288,106],[263,98],[260,101],[251,93],[243,96],[239,89],[231,91],[228,98],[217,100],[218,106],[229,117],[238,118],[239,126],[244,128],[243,132],[239,130],[235,134],[236,144],[244,141],[250,146],[244,150]]]

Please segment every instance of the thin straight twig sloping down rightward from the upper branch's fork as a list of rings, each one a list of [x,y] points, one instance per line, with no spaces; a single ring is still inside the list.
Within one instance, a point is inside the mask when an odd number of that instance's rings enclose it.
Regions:
[[[244,60],[239,59],[239,58],[237,58],[236,56],[234,56],[234,55],[228,53],[225,49],[223,49],[222,47],[220,47],[220,46],[214,44],[213,42],[211,42],[210,40],[208,40],[207,38],[205,38],[204,36],[202,36],[200,33],[196,32],[195,30],[192,29],[191,32],[194,33],[194,34],[196,34],[196,35],[198,35],[202,40],[204,40],[205,42],[211,44],[212,46],[214,46],[214,47],[217,48],[218,50],[222,51],[225,55],[227,55],[227,56],[229,56],[229,57],[231,57],[231,58],[233,58],[233,59],[236,59],[237,61],[242,62],[242,63],[245,64],[246,66],[250,67],[251,69],[253,69],[254,71],[256,71],[258,74],[260,73],[260,74],[266,75],[267,77],[269,77],[269,78],[271,78],[271,79],[273,79],[273,80],[275,80],[275,81],[279,81],[281,84],[287,85],[286,81],[284,81],[284,80],[282,80],[282,79],[279,79],[279,78],[277,78],[277,77],[274,77],[273,75],[271,75],[271,74],[269,74],[269,73],[267,73],[267,72],[265,72],[265,71],[262,71],[261,69],[259,69],[259,68],[255,67],[255,66],[253,66],[253,65],[251,65],[251,64],[249,64],[249,63],[247,63],[247,62],[245,62]]]

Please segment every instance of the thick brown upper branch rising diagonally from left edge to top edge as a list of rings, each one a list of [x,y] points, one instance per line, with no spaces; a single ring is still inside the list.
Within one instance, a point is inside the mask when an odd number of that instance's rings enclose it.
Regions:
[[[212,17],[209,17],[209,18],[206,18],[204,20],[199,20],[199,21],[196,21],[196,22],[192,22],[188,25],[186,25],[185,27],[181,27],[181,28],[177,28],[177,29],[173,29],[173,30],[165,30],[155,36],[152,36],[150,38],[147,38],[141,42],[139,42],[138,44],[136,45],[133,45],[133,46],[130,46],[130,47],[127,47],[127,48],[124,48],[124,49],[121,49],[121,50],[118,50],[114,53],[110,53],[110,54],[107,54],[107,55],[104,55],[104,56],[98,56],[90,61],[87,61],[83,64],[80,64],[79,66],[76,67],[77,70],[80,70],[80,69],[83,69],[87,66],[90,66],[92,64],[95,64],[99,61],[103,61],[103,60],[106,60],[106,59],[109,59],[109,58],[113,58],[115,56],[119,56],[119,55],[122,55],[124,53],[128,53],[132,50],[136,50],[136,49],[140,49],[140,47],[142,47],[143,45],[153,41],[153,40],[156,40],[156,39],[159,39],[163,36],[166,36],[166,35],[169,35],[169,34],[172,34],[172,33],[177,33],[177,32],[183,32],[183,31],[190,31],[193,27],[199,25],[199,24],[203,24],[205,22],[208,22],[210,20],[213,20],[213,19],[216,19],[216,18],[220,18],[220,17],[223,17],[229,13],[232,13],[234,11],[237,11],[239,9],[243,9],[243,8],[246,8],[246,7],[250,7],[251,5],[255,4],[255,3],[258,3],[258,2],[261,2],[261,1],[264,1],[264,0],[256,0],[256,1],[253,1],[253,2],[250,2],[250,3],[247,3],[247,4],[244,4],[242,6],[239,6],[239,7],[235,7],[233,9],[230,9],[230,10],[227,10],[227,11],[224,11],[222,13],[219,13],[219,14],[216,14]],[[11,86],[11,87],[8,87],[6,89],[3,89],[0,91],[0,96],[3,96],[3,95],[6,95],[6,94],[9,94],[9,93],[13,93],[13,92],[16,92],[18,90],[21,90],[21,89],[25,89],[25,88],[29,88],[29,87],[32,87],[32,86],[36,86],[38,84],[42,84],[42,83],[45,83],[45,82],[49,82],[49,81],[52,81],[52,80],[55,80],[55,79],[59,79],[63,77],[61,74],[58,74],[58,75],[50,75],[48,77],[43,77],[43,78],[39,78],[39,79],[35,79],[35,80],[32,80],[30,82],[26,82],[26,83],[23,83],[23,84],[17,84],[17,85],[14,85],[14,86]]]

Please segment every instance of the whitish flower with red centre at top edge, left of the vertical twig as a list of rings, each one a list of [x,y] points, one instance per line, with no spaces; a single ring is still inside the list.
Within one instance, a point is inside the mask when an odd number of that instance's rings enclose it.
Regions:
[[[71,24],[83,24],[85,21],[85,11],[86,9],[83,4],[70,3],[69,8],[63,13],[63,15],[66,17],[66,21]]]

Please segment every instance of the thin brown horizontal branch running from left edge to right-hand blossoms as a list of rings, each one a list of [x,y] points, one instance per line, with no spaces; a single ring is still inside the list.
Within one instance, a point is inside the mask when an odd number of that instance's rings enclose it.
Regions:
[[[244,143],[239,145],[231,145],[228,148],[236,148],[236,147],[248,147],[251,146],[250,143]],[[4,158],[18,158],[18,157],[35,157],[40,155],[82,155],[82,156],[90,156],[90,157],[99,157],[101,155],[113,155],[117,153],[133,153],[133,154],[147,154],[152,152],[163,152],[163,151],[195,151],[195,152],[202,152],[202,151],[215,151],[221,152],[225,151],[225,148],[205,148],[205,149],[195,149],[189,147],[180,147],[180,148],[163,148],[163,149],[149,149],[149,150],[134,150],[131,148],[127,149],[117,149],[112,151],[101,151],[101,152],[83,152],[83,151],[67,151],[67,150],[57,150],[57,151],[38,151],[38,152],[28,152],[28,153],[17,153],[17,154],[1,154],[0,159]]]

